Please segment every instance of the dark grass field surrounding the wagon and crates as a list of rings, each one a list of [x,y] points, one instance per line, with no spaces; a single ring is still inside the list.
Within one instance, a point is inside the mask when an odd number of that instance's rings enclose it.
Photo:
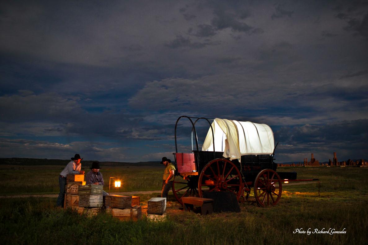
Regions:
[[[124,183],[119,191],[136,191],[160,189],[162,170],[106,167],[101,172],[105,190],[108,177],[117,176]],[[57,193],[60,171],[60,166],[42,166],[42,170],[3,166],[1,195]],[[207,216],[181,211],[171,195],[168,218],[162,222],[123,222],[103,213],[93,218],[80,216],[56,209],[56,198],[1,198],[0,238],[2,244],[365,244],[368,168],[283,167],[279,171],[296,171],[298,178],[320,178],[321,187],[315,182],[284,185],[275,207],[241,203],[241,213]],[[32,178],[36,173],[38,177]],[[139,196],[144,206],[157,195]],[[309,228],[309,235],[294,233]],[[346,233],[313,233],[323,228]]]

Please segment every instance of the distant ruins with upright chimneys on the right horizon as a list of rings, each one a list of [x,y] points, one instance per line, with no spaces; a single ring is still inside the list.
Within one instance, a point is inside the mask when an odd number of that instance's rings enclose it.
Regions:
[[[283,164],[279,163],[277,164],[279,167],[302,167],[302,166],[368,166],[368,161],[365,161],[365,159],[360,159],[353,161],[351,159],[348,159],[347,161],[337,161],[336,152],[333,153],[333,159],[328,160],[328,163],[319,163],[318,160],[316,160],[313,156],[313,153],[311,154],[311,160],[308,161],[308,158],[304,158],[304,162],[301,163],[292,163],[292,164]]]

